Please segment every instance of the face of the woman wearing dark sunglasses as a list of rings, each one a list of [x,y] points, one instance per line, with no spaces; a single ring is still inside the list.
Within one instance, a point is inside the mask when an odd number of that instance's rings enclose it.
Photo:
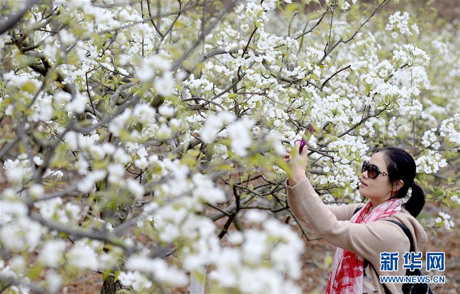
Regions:
[[[380,172],[388,174],[383,156],[383,152],[374,153],[369,164],[376,165]],[[388,200],[392,195],[392,185],[390,184],[389,176],[379,174],[376,178],[370,178],[366,170],[361,174],[359,192],[361,195],[371,199],[372,205],[376,207],[380,203]]]

